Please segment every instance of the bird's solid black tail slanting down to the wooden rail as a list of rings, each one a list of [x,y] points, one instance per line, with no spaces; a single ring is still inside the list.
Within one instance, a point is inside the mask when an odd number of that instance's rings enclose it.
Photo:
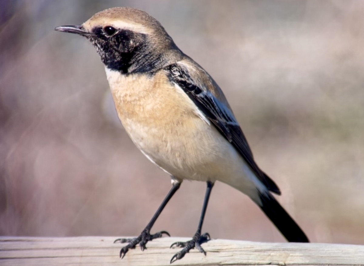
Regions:
[[[260,208],[289,242],[310,242],[302,229],[276,199],[269,194],[260,194]]]

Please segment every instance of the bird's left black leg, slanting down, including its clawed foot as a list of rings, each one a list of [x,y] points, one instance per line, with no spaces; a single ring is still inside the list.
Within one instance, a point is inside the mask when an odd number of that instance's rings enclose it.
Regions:
[[[114,241],[114,243],[119,242],[119,243],[128,243],[126,246],[124,246],[121,250],[120,250],[120,258],[124,258],[125,254],[128,252],[129,249],[134,249],[135,246],[139,243],[139,246],[141,248],[141,250],[145,250],[146,249],[146,243],[150,240],[153,240],[155,238],[159,238],[162,237],[163,234],[166,234],[168,236],[170,236],[170,234],[167,231],[160,231],[158,233],[155,234],[150,234],[150,229],[152,228],[152,226],[154,225],[155,221],[157,220],[159,214],[161,214],[162,210],[164,209],[164,207],[167,205],[168,201],[171,199],[171,197],[173,196],[173,194],[179,189],[179,186],[181,186],[181,183],[175,183],[173,184],[171,190],[168,192],[167,196],[165,197],[165,199],[163,200],[161,206],[159,206],[158,210],[155,212],[155,214],[153,215],[152,219],[150,220],[150,222],[147,224],[147,226],[145,227],[145,229],[142,231],[142,233],[135,238],[118,238]]]

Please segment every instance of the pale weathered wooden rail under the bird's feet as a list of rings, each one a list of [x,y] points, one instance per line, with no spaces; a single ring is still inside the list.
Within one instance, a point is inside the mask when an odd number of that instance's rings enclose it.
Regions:
[[[0,265],[132,265],[167,266],[179,249],[175,241],[188,238],[160,238],[147,250],[130,250],[124,259],[118,254],[115,237],[0,237]],[[364,265],[364,246],[323,243],[259,243],[211,240],[203,244],[205,257],[196,250],[173,265]]]

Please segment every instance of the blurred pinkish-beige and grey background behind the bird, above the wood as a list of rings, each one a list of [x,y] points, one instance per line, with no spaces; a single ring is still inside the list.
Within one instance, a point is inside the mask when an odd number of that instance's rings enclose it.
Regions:
[[[277,197],[312,242],[364,244],[364,1],[1,0],[0,234],[138,235],[170,178],[132,144],[88,41],[94,13],[150,13],[224,90]],[[183,182],[153,232],[191,237],[205,194]],[[217,183],[203,231],[285,239]]]

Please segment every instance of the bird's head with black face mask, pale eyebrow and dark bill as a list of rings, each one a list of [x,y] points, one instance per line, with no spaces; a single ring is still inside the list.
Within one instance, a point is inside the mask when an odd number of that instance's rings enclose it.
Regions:
[[[85,36],[105,66],[122,73],[157,70],[178,61],[182,54],[154,17],[135,8],[106,9],[81,25],[55,30]]]

